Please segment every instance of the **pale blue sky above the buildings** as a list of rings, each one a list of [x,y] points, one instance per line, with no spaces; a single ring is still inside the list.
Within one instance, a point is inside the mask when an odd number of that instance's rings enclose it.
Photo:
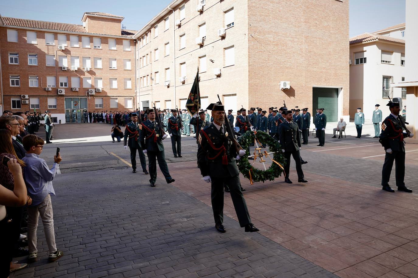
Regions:
[[[36,2],[36,5],[30,5]],[[26,18],[81,24],[84,12],[104,12],[125,17],[123,25],[139,30],[170,0],[14,0],[2,1],[0,13]],[[44,7],[44,8],[42,8]],[[65,8],[61,8],[65,7]],[[405,0],[350,0],[350,37],[405,22]]]

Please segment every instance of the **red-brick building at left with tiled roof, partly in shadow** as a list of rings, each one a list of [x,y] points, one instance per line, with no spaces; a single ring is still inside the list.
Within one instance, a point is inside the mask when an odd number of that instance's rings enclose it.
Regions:
[[[0,16],[3,110],[51,110],[57,123],[84,110],[135,107],[136,31],[122,16],[84,13],[83,25]]]

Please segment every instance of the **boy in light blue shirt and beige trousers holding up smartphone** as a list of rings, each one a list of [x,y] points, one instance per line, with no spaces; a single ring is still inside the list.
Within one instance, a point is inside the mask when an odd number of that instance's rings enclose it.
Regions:
[[[32,198],[32,204],[28,206],[28,261],[36,261],[38,250],[36,249],[36,229],[38,228],[38,218],[41,216],[46,243],[49,249],[48,261],[54,262],[64,255],[56,248],[54,219],[51,203],[51,194],[55,195],[52,187],[59,163],[62,158],[54,156],[54,166],[49,170],[46,161],[39,158],[43,149],[43,139],[39,136],[29,134],[23,138],[23,147],[26,155],[22,159],[26,163],[24,178],[28,195]]]

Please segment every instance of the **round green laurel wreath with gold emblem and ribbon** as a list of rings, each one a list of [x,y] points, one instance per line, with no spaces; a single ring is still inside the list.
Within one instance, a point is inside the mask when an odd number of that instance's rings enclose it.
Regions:
[[[254,143],[254,139],[257,138],[258,141],[262,144],[267,144],[269,147],[269,153],[270,157],[273,156],[273,160],[280,163],[283,167],[286,164],[285,158],[282,155],[282,148],[278,140],[275,140],[273,137],[268,135],[268,133],[265,133],[263,131],[257,131],[254,133],[253,131],[248,130],[246,133],[244,133],[238,142],[242,146],[242,148],[245,150],[245,156],[241,157],[240,160],[238,160],[238,170],[240,170],[240,173],[247,179],[250,179],[250,170],[251,170],[251,178],[253,182],[260,182],[263,183],[266,180],[274,180],[275,178],[278,178],[283,173],[282,168],[280,168],[279,165],[274,163],[272,161],[270,167],[267,170],[260,170],[255,167],[253,167],[250,162],[248,161],[249,155],[254,155],[254,153],[249,152],[250,144]],[[258,143],[257,141],[257,143]],[[265,160],[269,160],[269,158],[264,157]],[[258,162],[259,163],[259,162]]]

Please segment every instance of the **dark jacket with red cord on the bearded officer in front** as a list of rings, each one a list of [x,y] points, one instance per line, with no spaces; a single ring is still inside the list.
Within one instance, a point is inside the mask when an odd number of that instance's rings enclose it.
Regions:
[[[204,134],[207,135],[213,146],[208,142]],[[197,149],[197,163],[202,176],[209,175],[213,178],[224,178],[234,177],[240,173],[235,162],[237,152],[232,141],[225,135],[221,135],[213,123],[205,127],[201,131],[200,136],[201,143]],[[222,145],[225,148],[225,153]],[[213,147],[221,148],[221,150],[215,150]],[[219,151],[221,153],[218,155]],[[222,164],[222,156],[224,154],[227,155],[227,165]]]

